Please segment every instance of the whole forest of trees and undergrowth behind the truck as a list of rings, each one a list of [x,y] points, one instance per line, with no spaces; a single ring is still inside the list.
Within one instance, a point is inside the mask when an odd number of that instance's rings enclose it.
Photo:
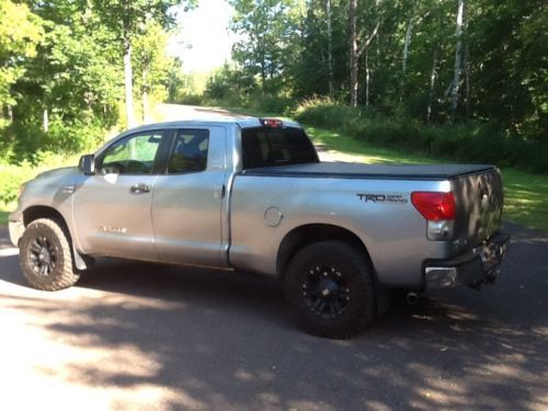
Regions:
[[[0,0],[0,203],[161,102],[548,172],[546,1],[228,2],[231,60],[198,90],[167,54],[197,0]]]

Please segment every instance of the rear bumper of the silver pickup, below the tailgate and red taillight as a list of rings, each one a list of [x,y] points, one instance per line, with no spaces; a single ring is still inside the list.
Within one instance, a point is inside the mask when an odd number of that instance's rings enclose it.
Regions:
[[[504,260],[510,235],[499,233],[481,246],[449,260],[427,260],[424,264],[425,288],[467,285],[479,287],[496,278],[498,266]]]

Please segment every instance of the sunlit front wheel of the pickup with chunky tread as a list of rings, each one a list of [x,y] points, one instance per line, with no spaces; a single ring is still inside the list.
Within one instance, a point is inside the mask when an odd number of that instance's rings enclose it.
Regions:
[[[34,288],[56,292],[80,277],[72,264],[69,238],[58,222],[47,218],[32,221],[19,246],[21,270]]]

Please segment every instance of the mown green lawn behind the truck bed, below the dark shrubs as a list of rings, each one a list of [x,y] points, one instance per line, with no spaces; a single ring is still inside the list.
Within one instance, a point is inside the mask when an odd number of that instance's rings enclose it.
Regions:
[[[306,126],[317,144],[341,152],[345,161],[365,163],[438,163],[441,160],[388,148],[372,147],[338,133]],[[548,231],[548,175],[502,169],[504,181],[504,219]]]

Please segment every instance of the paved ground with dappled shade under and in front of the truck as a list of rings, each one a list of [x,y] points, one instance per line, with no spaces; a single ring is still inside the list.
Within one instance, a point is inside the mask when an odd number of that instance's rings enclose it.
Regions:
[[[507,226],[494,286],[392,305],[364,334],[300,333],[279,285],[101,260],[26,287],[0,231],[0,409],[548,409],[548,235]]]

